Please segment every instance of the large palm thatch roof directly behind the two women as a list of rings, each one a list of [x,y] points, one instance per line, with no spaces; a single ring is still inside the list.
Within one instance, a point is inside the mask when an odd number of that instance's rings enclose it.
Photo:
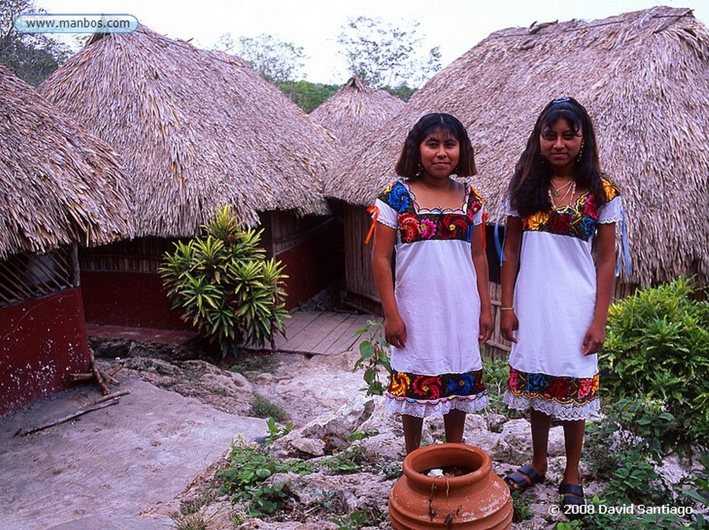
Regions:
[[[370,204],[393,179],[411,125],[426,112],[449,112],[469,130],[479,169],[473,181],[496,218],[537,115],[559,96],[588,109],[601,164],[625,196],[633,259],[625,281],[696,273],[707,282],[709,32],[689,9],[492,33],[336,167],[325,193]]]

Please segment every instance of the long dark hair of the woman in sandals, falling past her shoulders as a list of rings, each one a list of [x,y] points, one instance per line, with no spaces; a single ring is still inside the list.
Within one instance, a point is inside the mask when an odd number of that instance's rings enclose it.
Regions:
[[[523,217],[552,208],[548,193],[552,167],[542,156],[540,135],[545,128],[552,126],[559,119],[568,121],[571,129],[576,132],[581,129],[583,135],[580,158],[577,157],[574,162],[576,186],[591,191],[596,205],[607,202],[601,182],[598,145],[591,117],[586,108],[574,98],[558,98],[549,101],[537,118],[534,130],[527,140],[527,147],[520,156],[510,181],[510,205]]]

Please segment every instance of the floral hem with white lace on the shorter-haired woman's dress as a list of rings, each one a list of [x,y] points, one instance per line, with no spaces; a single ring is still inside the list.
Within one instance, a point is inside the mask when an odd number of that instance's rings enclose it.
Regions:
[[[393,371],[384,396],[387,411],[418,417],[445,415],[452,409],[474,412],[488,405],[482,370],[440,376]]]

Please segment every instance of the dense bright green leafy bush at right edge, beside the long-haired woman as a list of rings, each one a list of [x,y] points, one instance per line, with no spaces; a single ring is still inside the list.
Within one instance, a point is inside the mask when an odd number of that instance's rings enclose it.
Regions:
[[[664,448],[709,439],[709,304],[679,278],[610,306],[603,394],[607,401],[645,397],[661,403],[675,428]]]

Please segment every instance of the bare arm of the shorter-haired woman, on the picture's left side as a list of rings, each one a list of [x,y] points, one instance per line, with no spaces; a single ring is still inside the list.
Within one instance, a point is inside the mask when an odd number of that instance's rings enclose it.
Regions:
[[[381,308],[384,310],[384,339],[397,348],[406,346],[406,324],[401,320],[391,274],[391,256],[396,242],[396,229],[376,223],[372,244],[372,272],[376,290],[379,291]]]

